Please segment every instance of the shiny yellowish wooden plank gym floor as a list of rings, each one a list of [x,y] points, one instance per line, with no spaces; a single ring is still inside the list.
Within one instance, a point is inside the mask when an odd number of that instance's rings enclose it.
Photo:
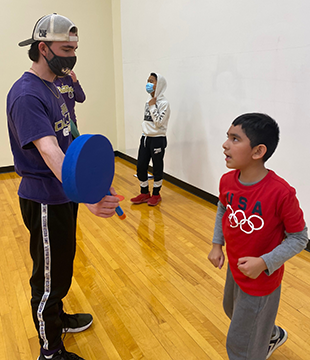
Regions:
[[[90,312],[94,323],[67,334],[67,350],[86,360],[228,359],[226,266],[218,270],[207,260],[216,207],[167,182],[160,205],[131,205],[139,193],[134,173],[132,164],[116,159],[113,185],[125,196],[126,220],[97,218],[80,205],[74,277],[64,304],[67,312]],[[15,173],[0,175],[0,360],[39,355],[19,181]],[[310,358],[309,275],[309,252],[286,264],[277,324],[289,338],[271,360]]]

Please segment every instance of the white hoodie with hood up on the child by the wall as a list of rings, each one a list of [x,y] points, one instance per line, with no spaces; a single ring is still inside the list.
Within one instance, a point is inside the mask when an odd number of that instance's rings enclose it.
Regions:
[[[167,88],[166,79],[157,74],[157,85],[155,89],[156,104],[149,106],[150,98],[145,104],[144,121],[142,123],[142,132],[145,136],[166,136],[168,119],[170,117],[170,105],[164,96]]]

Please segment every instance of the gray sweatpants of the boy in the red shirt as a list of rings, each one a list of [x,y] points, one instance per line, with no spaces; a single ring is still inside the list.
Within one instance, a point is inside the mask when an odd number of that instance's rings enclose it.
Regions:
[[[252,296],[236,284],[227,269],[223,306],[231,319],[226,348],[230,360],[265,360],[275,334],[281,285],[270,295]]]

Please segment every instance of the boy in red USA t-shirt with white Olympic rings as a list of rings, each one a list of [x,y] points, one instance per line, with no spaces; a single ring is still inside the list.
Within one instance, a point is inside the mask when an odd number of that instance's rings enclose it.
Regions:
[[[244,114],[227,136],[226,166],[235,170],[220,181],[208,258],[221,269],[226,243],[223,305],[231,319],[229,359],[265,360],[287,339],[287,332],[274,324],[283,264],[307,246],[307,228],[295,189],[265,167],[278,145],[278,124],[265,114]]]

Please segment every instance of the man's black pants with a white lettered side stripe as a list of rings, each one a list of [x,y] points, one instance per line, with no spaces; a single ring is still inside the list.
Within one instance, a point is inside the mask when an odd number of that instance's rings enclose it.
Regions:
[[[30,232],[32,316],[48,355],[62,344],[60,316],[73,275],[78,204],[44,205],[20,198],[20,208]]]

